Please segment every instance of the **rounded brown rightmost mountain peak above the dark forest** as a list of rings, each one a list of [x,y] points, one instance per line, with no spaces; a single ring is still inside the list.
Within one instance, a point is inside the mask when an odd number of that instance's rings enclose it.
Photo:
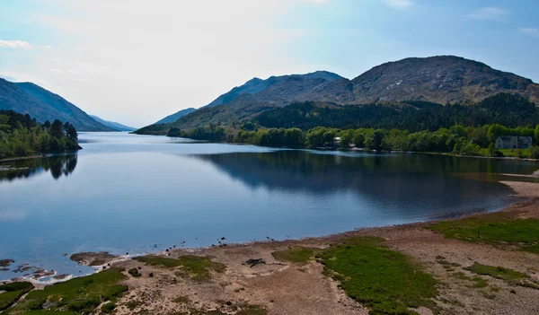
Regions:
[[[376,66],[352,80],[354,102],[478,102],[499,92],[539,102],[539,85],[463,57],[406,58]]]

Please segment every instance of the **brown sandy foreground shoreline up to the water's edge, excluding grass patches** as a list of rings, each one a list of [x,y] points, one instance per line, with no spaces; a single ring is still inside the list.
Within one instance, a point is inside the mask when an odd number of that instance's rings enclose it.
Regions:
[[[466,314],[469,310],[473,310],[474,314],[485,315],[539,313],[539,305],[536,303],[539,299],[537,254],[506,245],[448,238],[432,229],[433,225],[440,223],[466,220],[490,222],[494,218],[502,220],[501,223],[505,222],[503,220],[539,220],[539,183],[500,183],[513,190],[511,196],[526,199],[520,199],[496,212],[466,214],[455,219],[361,228],[295,240],[227,243],[222,247],[171,248],[158,253],[110,257],[110,260],[100,260],[102,264],[94,266],[92,276],[118,270],[124,275],[119,284],[126,285],[128,291],[114,302],[115,313],[118,315],[259,314],[238,312],[238,307],[239,310],[260,307],[263,310],[260,314],[267,315],[367,315],[369,309],[366,304],[352,299],[340,286],[340,280],[326,274],[325,264],[318,258],[314,259],[313,256],[305,262],[295,262],[281,260],[275,253],[292,249],[324,252],[335,249],[336,244],[346,240],[377,238],[384,240],[388,250],[404,255],[440,283],[437,284],[437,296],[429,300],[436,307],[412,307],[411,311],[420,315]],[[140,256],[144,256],[143,259]],[[181,272],[184,270],[182,267],[154,265],[144,260],[155,258],[180,261],[177,259],[183,257],[210,259],[208,261],[223,266],[223,269],[210,271],[208,279],[200,281],[186,276],[185,272]],[[250,267],[247,264],[250,259],[262,259],[264,262]],[[526,274],[531,281],[530,285],[488,275],[478,276],[470,271],[471,267],[479,266],[477,264],[502,270],[508,268]],[[132,273],[132,270],[136,272]],[[77,277],[74,276],[75,279]],[[55,282],[72,281],[70,279],[72,277]],[[42,290],[51,282],[32,281],[32,284]]]

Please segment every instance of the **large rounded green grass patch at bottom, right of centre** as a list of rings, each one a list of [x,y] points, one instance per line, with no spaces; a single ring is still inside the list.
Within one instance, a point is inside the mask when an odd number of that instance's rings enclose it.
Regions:
[[[325,249],[317,258],[324,274],[340,281],[370,314],[415,314],[409,308],[436,310],[437,280],[400,252],[387,249],[383,239],[350,238]]]

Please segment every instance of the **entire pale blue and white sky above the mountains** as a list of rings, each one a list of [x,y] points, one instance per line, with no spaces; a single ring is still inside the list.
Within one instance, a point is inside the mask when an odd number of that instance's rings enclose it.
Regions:
[[[539,82],[536,0],[1,0],[0,77],[143,127],[252,77],[455,55]]]

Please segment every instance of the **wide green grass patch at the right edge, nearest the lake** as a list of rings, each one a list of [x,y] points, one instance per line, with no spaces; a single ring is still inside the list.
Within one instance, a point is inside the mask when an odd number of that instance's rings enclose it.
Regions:
[[[450,239],[510,245],[539,254],[539,219],[514,219],[498,213],[433,223],[429,229]]]

